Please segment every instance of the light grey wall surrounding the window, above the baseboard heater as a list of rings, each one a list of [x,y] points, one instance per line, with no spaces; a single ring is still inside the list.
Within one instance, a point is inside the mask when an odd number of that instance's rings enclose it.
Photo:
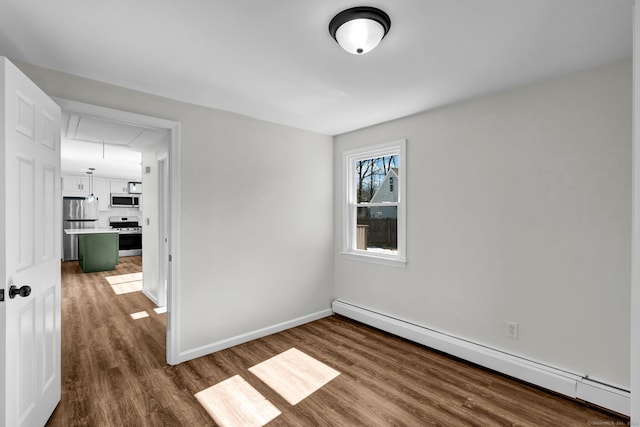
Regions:
[[[631,61],[335,138],[407,138],[406,269],[335,259],[341,300],[629,388]],[[520,338],[505,336],[505,321]]]

